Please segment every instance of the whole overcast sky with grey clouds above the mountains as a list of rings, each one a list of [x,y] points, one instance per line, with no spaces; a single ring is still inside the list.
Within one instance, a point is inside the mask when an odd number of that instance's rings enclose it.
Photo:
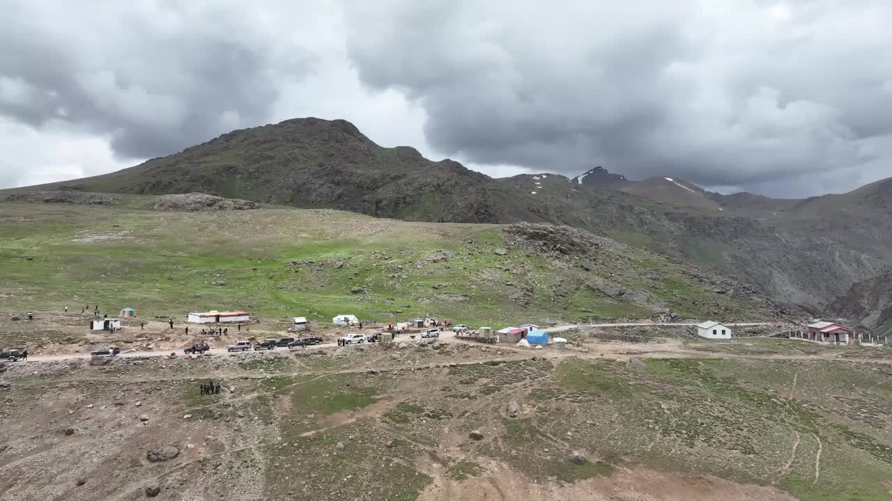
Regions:
[[[892,177],[888,0],[0,0],[0,187],[343,118],[491,176]]]

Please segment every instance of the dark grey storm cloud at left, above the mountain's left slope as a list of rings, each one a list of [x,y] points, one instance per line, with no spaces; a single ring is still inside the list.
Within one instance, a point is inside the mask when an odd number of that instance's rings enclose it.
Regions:
[[[14,20],[0,30],[0,113],[110,135],[123,157],[264,123],[307,66],[225,3],[0,4]]]

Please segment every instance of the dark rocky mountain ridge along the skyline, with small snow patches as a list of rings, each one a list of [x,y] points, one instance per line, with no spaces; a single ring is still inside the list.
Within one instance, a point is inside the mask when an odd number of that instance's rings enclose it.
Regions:
[[[235,130],[136,167],[0,197],[53,190],[197,192],[410,221],[575,226],[735,275],[741,287],[815,313],[892,266],[892,179],[801,201],[709,193],[675,177],[634,182],[605,168],[493,179],[414,148],[381,147],[345,120]]]

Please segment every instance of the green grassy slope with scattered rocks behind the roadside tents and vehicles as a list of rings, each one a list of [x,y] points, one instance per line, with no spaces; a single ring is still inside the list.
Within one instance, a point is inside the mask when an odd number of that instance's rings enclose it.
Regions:
[[[145,207],[144,198],[128,205]],[[433,314],[493,326],[780,313],[720,276],[568,227],[437,225],[318,209],[15,203],[0,204],[0,215],[0,295],[12,311],[89,303],[314,321]]]

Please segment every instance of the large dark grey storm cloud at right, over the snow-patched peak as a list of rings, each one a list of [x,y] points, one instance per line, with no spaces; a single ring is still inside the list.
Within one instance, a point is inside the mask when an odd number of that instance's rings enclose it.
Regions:
[[[887,3],[461,5],[348,14],[360,78],[412,95],[440,152],[779,192],[877,177],[892,154]]]

